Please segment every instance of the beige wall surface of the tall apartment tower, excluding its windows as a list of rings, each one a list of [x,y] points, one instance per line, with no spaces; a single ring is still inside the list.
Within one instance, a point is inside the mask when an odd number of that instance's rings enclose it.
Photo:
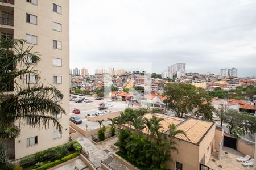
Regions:
[[[62,7],[62,14],[52,11],[52,3]],[[15,39],[25,39],[26,33],[38,37],[37,45],[33,45],[34,48],[31,52],[38,52],[41,58],[41,61],[35,67],[36,70],[40,71],[40,83],[52,84],[53,75],[62,76],[62,84],[56,85],[56,87],[64,95],[61,106],[67,112],[59,119],[63,126],[63,133],[62,137],[58,139],[53,139],[53,131],[56,131],[56,129],[52,128],[52,125],[49,125],[49,128],[45,130],[31,129],[26,124],[21,124],[20,136],[15,139],[15,159],[18,159],[49,147],[61,145],[69,140],[69,0],[38,1],[38,5],[16,0],[15,5],[0,3],[1,6],[14,7],[14,27],[0,25],[1,30],[3,28],[13,29]],[[36,25],[26,23],[26,13],[37,16]],[[61,32],[53,31],[53,21],[62,25]],[[62,41],[62,49],[53,49],[52,40]],[[52,58],[61,58],[62,66],[52,66]],[[19,125],[19,122],[15,122],[15,124]],[[27,138],[35,136],[38,136],[38,144],[27,147]]]

